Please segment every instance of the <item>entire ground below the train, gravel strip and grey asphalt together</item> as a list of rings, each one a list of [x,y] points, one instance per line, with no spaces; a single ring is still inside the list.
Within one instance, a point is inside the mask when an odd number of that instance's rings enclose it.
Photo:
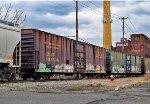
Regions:
[[[144,77],[0,82],[0,104],[149,104]]]

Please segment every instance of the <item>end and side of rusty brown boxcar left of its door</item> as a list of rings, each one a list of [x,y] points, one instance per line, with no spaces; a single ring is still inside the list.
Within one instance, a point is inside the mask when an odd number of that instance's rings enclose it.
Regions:
[[[73,40],[36,29],[22,30],[22,69],[73,72]],[[48,71],[48,70],[47,70]]]

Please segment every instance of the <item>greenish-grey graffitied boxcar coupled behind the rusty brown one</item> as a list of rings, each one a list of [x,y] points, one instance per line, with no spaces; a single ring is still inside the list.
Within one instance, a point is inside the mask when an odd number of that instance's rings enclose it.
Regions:
[[[141,75],[144,68],[139,56],[110,51],[110,71],[116,75]]]

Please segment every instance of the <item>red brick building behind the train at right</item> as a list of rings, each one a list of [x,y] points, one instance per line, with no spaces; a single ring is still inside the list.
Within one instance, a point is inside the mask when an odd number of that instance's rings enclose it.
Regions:
[[[140,57],[150,57],[150,38],[144,34],[131,34],[130,41],[124,40],[124,52]],[[122,52],[123,42],[117,42],[115,50]]]

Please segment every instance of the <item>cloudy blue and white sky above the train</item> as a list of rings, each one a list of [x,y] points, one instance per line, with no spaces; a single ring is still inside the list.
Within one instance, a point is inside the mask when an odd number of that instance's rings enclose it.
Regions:
[[[10,3],[12,11],[23,10],[26,14],[25,27],[22,28],[35,28],[67,37],[76,35],[74,0],[0,0],[0,7],[5,9]],[[111,0],[113,46],[122,37],[120,17],[128,17],[125,20],[125,38],[129,39],[134,33],[150,37],[149,8],[149,0]],[[3,19],[3,15],[0,16]],[[79,0],[79,40],[103,46],[102,0]]]

